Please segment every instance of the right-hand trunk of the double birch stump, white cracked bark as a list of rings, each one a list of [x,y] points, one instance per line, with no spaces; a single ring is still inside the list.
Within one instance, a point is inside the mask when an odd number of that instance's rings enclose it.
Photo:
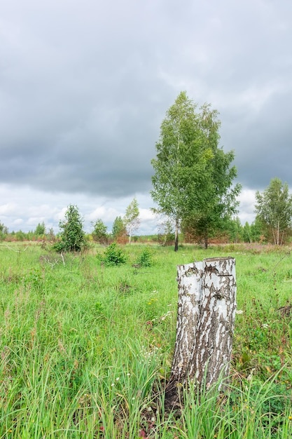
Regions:
[[[235,259],[204,260],[200,322],[190,360],[190,377],[207,388],[228,378],[235,325]]]

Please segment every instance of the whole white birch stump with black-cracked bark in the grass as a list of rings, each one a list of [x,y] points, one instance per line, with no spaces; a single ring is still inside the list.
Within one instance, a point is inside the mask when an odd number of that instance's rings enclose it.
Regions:
[[[214,257],[178,266],[179,302],[172,374],[166,399],[177,384],[195,379],[207,389],[228,379],[235,325],[235,259]]]

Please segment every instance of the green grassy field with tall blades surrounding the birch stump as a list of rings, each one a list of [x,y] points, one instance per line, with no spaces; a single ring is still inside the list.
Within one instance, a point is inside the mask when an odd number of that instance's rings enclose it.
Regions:
[[[0,244],[0,438],[291,438],[292,264],[288,248],[92,247],[60,255]],[[176,265],[232,256],[237,309],[228,391],[181,417],[163,408],[176,336]],[[141,262],[141,260],[140,260]]]

